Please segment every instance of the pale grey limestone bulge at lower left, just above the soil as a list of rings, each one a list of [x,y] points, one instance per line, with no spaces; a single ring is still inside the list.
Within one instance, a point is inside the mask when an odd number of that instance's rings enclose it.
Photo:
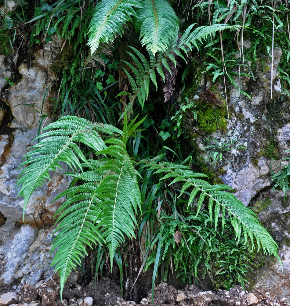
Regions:
[[[52,226],[37,231],[29,224],[19,228],[7,219],[0,228],[0,254],[4,255],[0,286],[11,285],[15,280],[34,286],[42,273],[44,279],[51,277],[53,267],[50,263],[54,255],[50,254],[52,234]]]

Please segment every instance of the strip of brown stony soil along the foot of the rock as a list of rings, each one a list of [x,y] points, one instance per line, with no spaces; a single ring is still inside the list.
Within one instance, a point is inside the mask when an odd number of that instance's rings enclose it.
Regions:
[[[19,306],[149,306],[152,303],[151,290],[139,304],[123,300],[120,286],[108,277],[96,283],[91,282],[85,288],[81,283],[82,277],[78,271],[69,276],[63,289],[63,302],[60,300],[60,279],[57,274],[46,282],[38,282],[33,289],[26,284],[18,292],[21,303]],[[252,301],[249,297],[252,297]],[[252,302],[255,304],[251,304]],[[289,302],[289,297],[276,300],[269,292],[256,291],[252,294],[240,286],[213,292],[203,291],[195,285],[186,285],[185,289],[181,290],[161,282],[154,287],[153,306],[290,306]]]

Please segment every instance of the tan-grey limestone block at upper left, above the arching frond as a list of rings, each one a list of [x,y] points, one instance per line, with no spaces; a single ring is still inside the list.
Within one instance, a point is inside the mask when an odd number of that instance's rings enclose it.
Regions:
[[[56,56],[60,53],[60,41],[57,36],[45,43],[44,48],[34,54],[31,64],[23,62],[18,70],[22,75],[20,81],[10,86],[3,94],[4,101],[10,105],[11,113],[23,130],[34,129],[42,114],[50,113],[52,97],[51,85],[55,76],[50,72]],[[43,98],[45,97],[44,104]]]

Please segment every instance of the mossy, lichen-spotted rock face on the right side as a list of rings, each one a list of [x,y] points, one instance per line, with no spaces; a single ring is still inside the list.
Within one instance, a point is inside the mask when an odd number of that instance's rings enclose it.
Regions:
[[[198,163],[209,177],[233,188],[235,196],[245,206],[271,202],[267,207],[263,207],[263,204],[254,209],[259,213],[259,221],[266,226],[279,245],[284,272],[281,273],[280,264],[274,260],[260,273],[254,274],[253,288],[258,291],[266,288],[275,292],[277,298],[290,296],[290,192],[288,191],[288,198],[284,201],[284,192],[271,191],[273,173],[279,172],[280,161],[290,156],[285,153],[290,150],[290,101],[287,95],[281,95],[278,71],[281,54],[281,49],[274,51],[273,99],[270,96],[269,70],[263,70],[259,63],[256,66],[255,81],[246,76],[236,79],[237,84],[240,84],[251,99],[241,95],[234,85],[227,84],[230,120],[227,116],[216,119],[229,121],[227,130],[217,128],[214,132],[206,131],[198,121],[198,112],[197,120],[190,111],[184,113],[183,118],[186,136],[198,151]],[[271,66],[270,58],[265,59],[265,63]],[[195,79],[200,80],[198,72],[194,73],[197,73]],[[205,99],[209,93],[219,102],[226,103],[224,84],[212,84],[204,76],[201,76],[197,91],[191,92],[192,96],[187,98],[195,103],[195,107],[200,105],[198,103],[208,103],[209,109],[221,107],[217,104],[210,105]],[[212,98],[211,101],[213,100]],[[212,124],[210,120],[208,122]],[[282,166],[285,162],[288,161],[284,161]],[[270,200],[266,200],[267,198]]]

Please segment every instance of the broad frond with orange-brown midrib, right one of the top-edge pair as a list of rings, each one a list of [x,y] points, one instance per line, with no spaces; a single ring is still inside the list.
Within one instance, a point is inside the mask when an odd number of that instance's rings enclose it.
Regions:
[[[167,0],[144,0],[136,10],[136,30],[142,45],[155,54],[165,52],[179,28],[179,19]]]

